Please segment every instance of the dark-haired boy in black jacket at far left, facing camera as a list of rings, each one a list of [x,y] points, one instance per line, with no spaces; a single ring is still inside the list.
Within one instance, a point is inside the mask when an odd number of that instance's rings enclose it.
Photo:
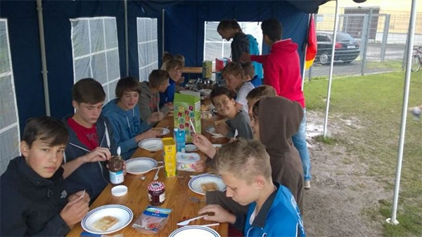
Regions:
[[[89,196],[65,189],[60,167],[68,130],[53,117],[27,120],[19,156],[0,178],[0,236],[65,236],[87,214]]]

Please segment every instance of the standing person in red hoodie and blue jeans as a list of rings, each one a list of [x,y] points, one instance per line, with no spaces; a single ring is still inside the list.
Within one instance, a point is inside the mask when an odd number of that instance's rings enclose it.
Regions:
[[[303,120],[300,123],[299,132],[292,137],[292,140],[302,160],[305,188],[310,188],[311,162],[306,142],[305,97],[302,91],[298,44],[291,39],[281,40],[283,27],[279,20],[264,20],[261,24],[261,29],[264,43],[271,47],[270,53],[261,56],[243,53],[240,61],[247,62],[252,60],[262,63],[264,84],[274,87],[278,96],[283,96],[291,101],[298,101],[302,105],[304,110]]]

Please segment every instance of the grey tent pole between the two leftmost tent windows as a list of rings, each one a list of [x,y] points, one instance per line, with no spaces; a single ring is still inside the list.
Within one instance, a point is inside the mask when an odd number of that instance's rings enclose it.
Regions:
[[[50,113],[50,96],[49,96],[49,79],[47,77],[47,61],[46,61],[46,43],[44,41],[44,22],[42,16],[42,3],[37,0],[37,13],[38,13],[38,27],[39,27],[39,48],[41,51],[41,73],[42,82],[44,85],[44,103],[46,106],[46,115],[51,116]]]

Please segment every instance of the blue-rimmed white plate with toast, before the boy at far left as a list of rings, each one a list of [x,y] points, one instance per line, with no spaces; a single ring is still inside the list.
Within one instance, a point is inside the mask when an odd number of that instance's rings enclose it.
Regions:
[[[119,222],[111,226],[106,231],[101,231],[94,227],[94,222],[98,221],[106,216],[113,216],[119,219]],[[134,213],[129,207],[124,205],[104,205],[101,207],[96,207],[96,209],[91,210],[88,214],[82,219],[81,225],[85,231],[96,234],[106,234],[113,233],[115,231],[120,231],[126,227],[132,219],[134,218]]]

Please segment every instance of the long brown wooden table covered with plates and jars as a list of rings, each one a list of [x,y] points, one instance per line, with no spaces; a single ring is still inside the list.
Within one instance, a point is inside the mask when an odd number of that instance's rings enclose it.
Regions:
[[[205,127],[210,124],[212,120],[203,120],[202,122],[202,129],[203,134],[210,138],[209,134],[205,132]],[[164,120],[160,121],[157,127],[169,127],[170,134],[167,134],[166,136],[173,136],[173,117],[167,116]],[[224,142],[223,139],[217,139],[213,140],[212,142]],[[200,151],[196,151],[200,154],[201,158],[205,159],[205,155],[201,153]],[[138,148],[134,155],[132,155],[132,158],[138,158],[138,157],[147,157],[147,158],[154,158],[157,161],[162,161],[162,150],[159,150],[157,152],[149,152],[148,150],[144,150],[142,148]],[[160,163],[158,164],[160,165]],[[122,233],[124,236],[150,236],[151,234],[144,234],[139,233],[136,231],[136,229],[132,228],[132,224],[138,218],[143,210],[150,204],[148,201],[148,184],[153,181],[153,177],[155,174],[155,170],[148,172],[146,174],[146,179],[141,180],[140,175],[134,175],[134,174],[127,174],[124,177],[123,185],[127,186],[129,191],[125,196],[121,197],[115,197],[111,195],[111,188],[113,188],[113,185],[109,184],[104,188],[103,192],[98,196],[98,198],[94,201],[94,203],[91,205],[90,210],[93,210],[96,207],[100,207],[103,205],[110,205],[110,204],[120,204],[129,207],[132,212],[134,212],[134,219],[132,222],[126,226],[124,229],[117,231],[115,233],[110,233],[110,236],[113,236],[114,234]],[[160,205],[160,207],[163,208],[170,208],[172,210],[172,213],[170,214],[169,220],[167,224],[165,225],[164,229],[160,231],[158,234],[155,234],[155,236],[169,236],[172,231],[179,228],[179,226],[176,225],[177,222],[181,222],[184,219],[189,219],[192,217],[198,216],[198,211],[200,208],[204,207],[206,204],[205,202],[200,203],[193,203],[191,200],[189,200],[189,196],[195,197],[195,198],[201,198],[204,199],[204,196],[201,196],[200,194],[193,193],[188,188],[188,181],[190,179],[189,175],[191,174],[198,174],[193,172],[179,172],[177,177],[165,177],[165,172],[163,169],[160,169],[159,172],[159,178],[158,181],[162,181],[165,184],[165,203]],[[193,221],[191,224],[212,224],[215,222],[209,222],[205,221],[204,219],[198,219],[196,221]],[[212,226],[210,227],[212,229],[215,229],[220,236],[227,236],[228,231],[228,224],[222,223],[218,226]],[[75,224],[73,229],[68,233],[68,236],[79,236],[80,233],[84,231],[82,229],[82,226],[80,223]]]

